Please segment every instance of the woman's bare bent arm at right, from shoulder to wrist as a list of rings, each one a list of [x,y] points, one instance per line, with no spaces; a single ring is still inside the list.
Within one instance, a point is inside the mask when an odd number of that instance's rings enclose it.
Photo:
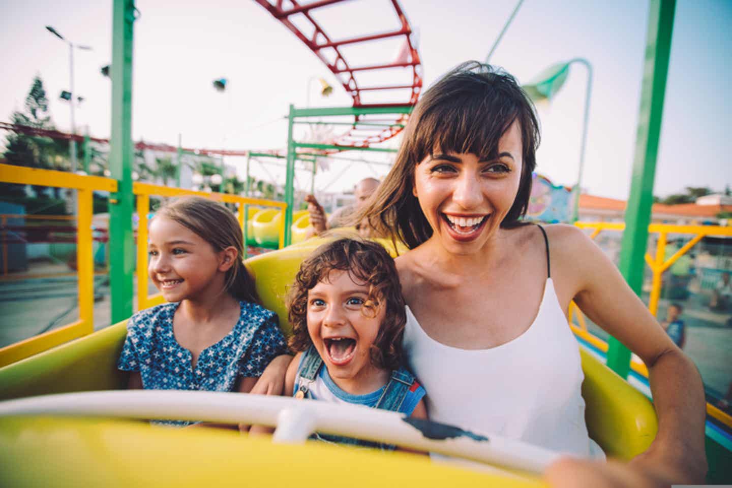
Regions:
[[[550,235],[550,244],[552,261],[557,265],[552,269],[564,281],[564,291],[568,288],[580,309],[640,356],[649,369],[658,434],[631,466],[666,481],[703,483],[707,469],[706,409],[695,365],[673,344],[616,266],[581,230],[561,226]]]

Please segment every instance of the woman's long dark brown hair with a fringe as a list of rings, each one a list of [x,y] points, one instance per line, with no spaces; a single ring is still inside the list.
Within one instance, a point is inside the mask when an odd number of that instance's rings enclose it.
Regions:
[[[478,61],[455,67],[430,86],[409,117],[392,170],[370,204],[354,216],[367,218],[383,235],[400,239],[410,249],[432,236],[432,228],[412,193],[414,168],[433,151],[471,153],[495,158],[498,140],[518,122],[523,168],[515,200],[502,228],[522,225],[536,168],[539,121],[534,105],[512,75]]]

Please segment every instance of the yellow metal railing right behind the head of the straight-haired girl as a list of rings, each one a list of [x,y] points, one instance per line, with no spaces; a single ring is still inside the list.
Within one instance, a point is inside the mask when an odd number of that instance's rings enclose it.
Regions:
[[[204,198],[211,198],[223,203],[234,203],[238,205],[236,217],[239,219],[239,226],[246,228],[247,205],[269,206],[280,209],[279,236],[280,245],[285,244],[285,209],[287,204],[275,200],[264,200],[261,198],[239,197],[228,193],[195,192],[190,189],[161,187],[154,184],[135,183],[132,185],[132,193],[137,195],[138,213],[138,236],[137,236],[137,282],[138,282],[138,310],[154,307],[163,303],[163,296],[160,293],[149,296],[147,289],[147,215],[150,211],[150,196],[159,197],[180,197],[183,195],[198,195]],[[246,245],[246,243],[244,243]]]

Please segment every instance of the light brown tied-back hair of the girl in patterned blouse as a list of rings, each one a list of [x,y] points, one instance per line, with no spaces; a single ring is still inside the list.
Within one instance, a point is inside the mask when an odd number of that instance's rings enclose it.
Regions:
[[[237,300],[258,304],[254,279],[244,266],[244,236],[239,221],[229,209],[207,198],[185,196],[168,200],[156,215],[178,222],[201,236],[214,251],[236,247],[234,265],[226,271],[225,290]]]

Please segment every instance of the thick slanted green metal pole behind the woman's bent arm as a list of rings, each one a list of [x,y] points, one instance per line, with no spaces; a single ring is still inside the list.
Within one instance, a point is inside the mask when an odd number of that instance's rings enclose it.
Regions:
[[[673,12],[676,0],[651,0],[648,34],[646,37],[646,62],[643,67],[641,110],[638,118],[638,135],[635,141],[632,186],[625,210],[625,231],[620,253],[620,271],[638,296],[643,286],[643,269],[646,266],[648,225],[653,204],[653,180],[661,132],[663,99],[668,75],[668,59],[671,54]],[[610,337],[608,367],[623,378],[630,372],[630,350],[614,337]]]

